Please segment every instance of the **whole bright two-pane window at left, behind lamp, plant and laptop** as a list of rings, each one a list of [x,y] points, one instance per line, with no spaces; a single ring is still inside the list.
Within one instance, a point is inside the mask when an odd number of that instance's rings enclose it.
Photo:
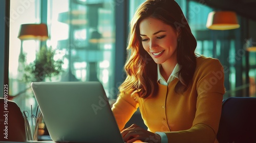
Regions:
[[[30,82],[22,79],[25,71],[18,70],[23,68],[19,54],[26,55],[25,64],[29,65],[43,46],[54,51],[54,60],[63,61],[62,72],[44,81],[99,81],[110,99],[116,96],[111,92],[115,76],[115,8],[110,0],[14,0],[10,14],[9,93],[16,96],[13,101],[21,110],[37,105]],[[40,22],[47,24],[50,38],[24,40],[21,46],[17,38],[20,25]]]

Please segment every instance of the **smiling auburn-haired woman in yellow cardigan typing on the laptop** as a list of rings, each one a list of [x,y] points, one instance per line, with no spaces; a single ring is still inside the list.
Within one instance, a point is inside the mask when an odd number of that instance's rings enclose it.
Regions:
[[[148,0],[138,7],[131,21],[127,77],[112,108],[124,141],[218,142],[223,67],[217,59],[197,57],[196,46],[175,1]],[[148,130],[124,129],[138,107]]]

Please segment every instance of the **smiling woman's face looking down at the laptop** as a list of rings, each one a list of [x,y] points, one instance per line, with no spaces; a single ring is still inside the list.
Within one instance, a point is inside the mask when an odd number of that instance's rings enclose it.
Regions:
[[[143,19],[139,30],[144,50],[157,64],[177,62],[178,31],[152,17]]]

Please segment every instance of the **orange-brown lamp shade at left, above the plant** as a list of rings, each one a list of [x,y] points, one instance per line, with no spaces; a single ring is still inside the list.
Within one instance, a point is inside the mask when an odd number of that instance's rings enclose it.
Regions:
[[[47,25],[44,23],[21,25],[18,38],[20,40],[45,41],[49,38]]]

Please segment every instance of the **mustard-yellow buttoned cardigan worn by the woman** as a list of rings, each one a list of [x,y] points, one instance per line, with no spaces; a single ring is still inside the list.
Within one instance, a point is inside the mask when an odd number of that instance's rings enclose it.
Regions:
[[[168,142],[218,142],[221,106],[224,88],[224,72],[219,60],[197,58],[197,67],[191,84],[183,94],[174,91],[178,79],[168,86],[158,84],[155,98],[131,98],[121,94],[113,105],[119,129],[129,121],[140,107],[148,131],[164,132]]]

